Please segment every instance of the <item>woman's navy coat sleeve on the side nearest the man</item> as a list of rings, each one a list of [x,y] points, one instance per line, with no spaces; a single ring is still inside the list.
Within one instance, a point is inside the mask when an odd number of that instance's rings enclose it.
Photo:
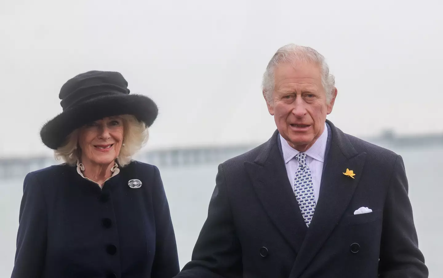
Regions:
[[[163,181],[156,166],[154,175],[155,189],[152,191],[152,200],[155,210],[155,256],[151,277],[171,278],[180,271],[177,243]]]

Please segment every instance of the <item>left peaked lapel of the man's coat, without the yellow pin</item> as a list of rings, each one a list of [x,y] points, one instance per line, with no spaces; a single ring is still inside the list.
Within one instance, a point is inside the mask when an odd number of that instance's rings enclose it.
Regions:
[[[288,180],[286,167],[277,146],[276,131],[256,160],[245,162],[255,193],[269,218],[291,247],[298,252],[307,227]]]

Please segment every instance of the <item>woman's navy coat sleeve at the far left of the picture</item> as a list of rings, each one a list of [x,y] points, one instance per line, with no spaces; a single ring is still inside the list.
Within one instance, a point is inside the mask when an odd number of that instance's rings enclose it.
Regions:
[[[47,248],[47,205],[44,196],[35,175],[27,174],[23,182],[12,278],[43,276]]]

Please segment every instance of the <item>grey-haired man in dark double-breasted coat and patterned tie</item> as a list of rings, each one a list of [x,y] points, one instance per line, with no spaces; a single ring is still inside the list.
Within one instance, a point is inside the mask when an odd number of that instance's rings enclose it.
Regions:
[[[283,46],[263,96],[277,131],[218,167],[177,277],[427,277],[403,160],[326,120],[337,89],[324,57]]]

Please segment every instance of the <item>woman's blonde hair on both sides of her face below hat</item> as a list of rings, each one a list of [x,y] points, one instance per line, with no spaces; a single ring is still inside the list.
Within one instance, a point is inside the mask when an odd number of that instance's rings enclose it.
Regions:
[[[137,120],[135,116],[121,115],[120,117],[124,127],[124,147],[120,149],[117,162],[124,167],[131,162],[132,156],[148,142],[149,133],[146,125]],[[77,160],[80,160],[82,154],[82,150],[78,147],[78,134],[79,130],[76,129],[67,136],[66,143],[54,151],[55,159],[62,160],[71,166],[77,165]]]

